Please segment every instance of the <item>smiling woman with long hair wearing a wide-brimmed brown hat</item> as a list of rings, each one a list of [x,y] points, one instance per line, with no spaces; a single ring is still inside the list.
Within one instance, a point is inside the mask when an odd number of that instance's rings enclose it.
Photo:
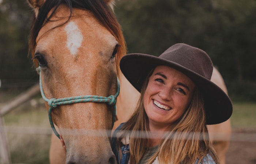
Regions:
[[[120,68],[141,96],[112,135],[118,163],[219,163],[206,125],[226,121],[233,107],[210,81],[213,65],[206,52],[179,43],[159,57],[125,55]]]

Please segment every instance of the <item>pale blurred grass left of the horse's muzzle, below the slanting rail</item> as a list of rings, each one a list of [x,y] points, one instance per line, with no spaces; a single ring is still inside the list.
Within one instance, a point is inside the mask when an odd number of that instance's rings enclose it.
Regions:
[[[4,116],[12,163],[49,163],[50,124],[44,105],[29,103]]]

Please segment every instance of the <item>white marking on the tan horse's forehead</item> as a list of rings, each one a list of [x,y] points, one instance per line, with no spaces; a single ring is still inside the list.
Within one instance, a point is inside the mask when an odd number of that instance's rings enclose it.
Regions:
[[[82,44],[83,36],[74,22],[69,22],[65,31],[67,33],[67,47],[72,55],[76,55],[78,48]]]

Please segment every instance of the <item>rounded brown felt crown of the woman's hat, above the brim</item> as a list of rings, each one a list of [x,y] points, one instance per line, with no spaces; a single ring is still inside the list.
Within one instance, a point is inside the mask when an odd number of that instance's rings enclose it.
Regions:
[[[207,79],[211,79],[213,64],[210,57],[203,50],[178,43],[168,48],[159,58],[177,63]]]

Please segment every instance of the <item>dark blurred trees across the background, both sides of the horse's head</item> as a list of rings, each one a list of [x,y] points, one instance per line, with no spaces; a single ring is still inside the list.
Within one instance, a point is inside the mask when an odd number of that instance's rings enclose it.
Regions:
[[[190,44],[207,52],[229,90],[256,97],[255,0],[118,0],[114,12],[129,53]],[[26,0],[0,0],[0,79],[38,78],[27,57],[31,16]]]

